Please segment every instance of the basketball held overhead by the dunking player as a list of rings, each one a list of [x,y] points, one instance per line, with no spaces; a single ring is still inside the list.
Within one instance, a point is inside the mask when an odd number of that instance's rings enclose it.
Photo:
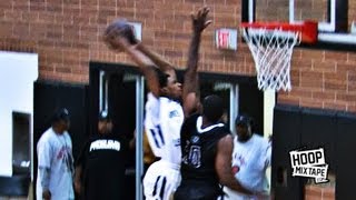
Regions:
[[[136,44],[134,28],[122,20],[109,24],[103,33],[103,41],[110,49],[123,51],[126,48]]]

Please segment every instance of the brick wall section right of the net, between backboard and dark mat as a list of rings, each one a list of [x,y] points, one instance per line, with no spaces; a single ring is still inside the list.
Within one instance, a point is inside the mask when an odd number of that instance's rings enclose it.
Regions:
[[[279,102],[356,111],[356,53],[296,49],[291,62],[291,92]]]

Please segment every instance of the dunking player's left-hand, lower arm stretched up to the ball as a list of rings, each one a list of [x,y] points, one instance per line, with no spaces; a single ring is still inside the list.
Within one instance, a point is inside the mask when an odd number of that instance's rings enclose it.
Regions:
[[[155,97],[159,97],[159,81],[155,71],[155,63],[137,49],[136,44],[131,44],[127,38],[120,34],[120,30],[115,27],[107,30],[103,41],[113,50],[125,51],[138,64],[141,72],[147,79],[149,90]]]

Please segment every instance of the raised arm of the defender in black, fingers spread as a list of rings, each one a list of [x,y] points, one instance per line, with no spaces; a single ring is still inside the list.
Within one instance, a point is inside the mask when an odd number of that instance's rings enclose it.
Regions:
[[[185,116],[189,116],[192,110],[196,110],[199,98],[198,94],[198,60],[201,32],[206,29],[211,20],[207,20],[209,9],[204,7],[199,9],[197,14],[191,14],[192,37],[188,50],[187,70],[185,73],[185,82],[182,86],[182,100]]]

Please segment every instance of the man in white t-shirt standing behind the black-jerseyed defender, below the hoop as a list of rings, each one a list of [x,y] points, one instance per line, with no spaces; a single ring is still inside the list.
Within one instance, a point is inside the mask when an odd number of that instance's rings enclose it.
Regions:
[[[238,116],[235,121],[237,137],[234,139],[233,172],[244,188],[254,194],[246,194],[225,188],[234,200],[269,199],[266,169],[270,167],[271,143],[254,133],[254,122],[248,116]]]

